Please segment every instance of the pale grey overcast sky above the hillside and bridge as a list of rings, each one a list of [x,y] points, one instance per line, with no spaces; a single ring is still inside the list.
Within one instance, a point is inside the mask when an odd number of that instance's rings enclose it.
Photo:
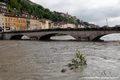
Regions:
[[[120,25],[119,0],[31,0],[52,11],[69,13],[80,20],[110,26]]]

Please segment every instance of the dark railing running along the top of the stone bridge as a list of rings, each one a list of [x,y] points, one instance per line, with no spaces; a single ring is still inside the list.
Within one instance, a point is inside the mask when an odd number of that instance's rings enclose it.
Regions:
[[[25,32],[43,32],[43,31],[120,31],[120,27],[99,27],[99,28],[56,28],[56,29],[39,29],[39,30],[19,30],[4,33],[25,33]]]

